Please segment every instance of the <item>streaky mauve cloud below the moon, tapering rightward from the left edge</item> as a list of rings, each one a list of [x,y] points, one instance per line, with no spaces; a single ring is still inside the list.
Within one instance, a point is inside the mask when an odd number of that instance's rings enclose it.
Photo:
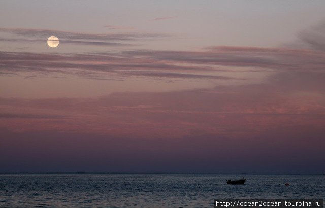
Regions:
[[[125,54],[39,54],[28,52],[0,52],[0,72],[32,73],[43,72],[48,76],[56,74],[77,75],[89,79],[106,79],[99,73],[113,76],[146,76],[183,79],[231,79],[231,77],[204,75],[214,68],[208,66],[179,65],[177,62],[156,61]],[[191,72],[191,73],[189,73]],[[5,74],[6,73],[6,74]],[[199,74],[196,74],[199,73]],[[52,75],[51,75],[52,74]],[[38,74],[43,76],[44,74]],[[112,77],[110,76],[110,79]],[[119,78],[120,79],[120,78]]]

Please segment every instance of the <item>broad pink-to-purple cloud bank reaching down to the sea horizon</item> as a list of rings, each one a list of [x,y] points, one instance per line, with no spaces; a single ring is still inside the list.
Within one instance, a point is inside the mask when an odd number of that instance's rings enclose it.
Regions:
[[[3,171],[29,166],[34,171],[317,172],[325,156],[324,78],[314,74],[301,80],[304,76],[283,73],[259,85],[99,98],[1,98],[0,108],[7,112],[0,114],[5,135],[0,144],[7,147],[1,152]],[[13,157],[12,151],[18,154]],[[44,160],[31,162],[35,157]],[[238,157],[249,162],[243,165]]]

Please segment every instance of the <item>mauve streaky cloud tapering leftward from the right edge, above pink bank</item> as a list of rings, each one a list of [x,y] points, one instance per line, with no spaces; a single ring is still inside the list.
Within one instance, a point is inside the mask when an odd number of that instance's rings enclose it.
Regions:
[[[254,67],[260,70],[323,71],[325,53],[290,48],[258,48],[211,46],[208,51],[148,51],[124,52],[131,57],[146,57],[156,61],[214,66]]]

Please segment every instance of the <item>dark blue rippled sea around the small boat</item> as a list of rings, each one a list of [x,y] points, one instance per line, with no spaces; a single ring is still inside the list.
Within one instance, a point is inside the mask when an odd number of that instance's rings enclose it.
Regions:
[[[245,185],[225,182],[242,177]],[[324,175],[3,174],[0,186],[6,186],[1,207],[213,207],[214,198],[325,198]]]

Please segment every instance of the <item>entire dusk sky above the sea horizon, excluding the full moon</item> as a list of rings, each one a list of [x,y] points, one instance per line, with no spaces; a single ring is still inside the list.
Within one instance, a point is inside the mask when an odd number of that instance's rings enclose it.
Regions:
[[[0,1],[0,172],[323,174],[323,8]]]

